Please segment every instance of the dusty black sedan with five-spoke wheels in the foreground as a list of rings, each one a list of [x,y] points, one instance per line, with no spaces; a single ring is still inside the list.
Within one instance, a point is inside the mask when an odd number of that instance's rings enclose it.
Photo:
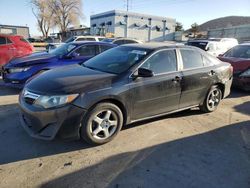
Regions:
[[[231,65],[195,47],[129,44],[30,80],[21,122],[35,138],[104,144],[124,124],[192,107],[213,112],[231,84]]]

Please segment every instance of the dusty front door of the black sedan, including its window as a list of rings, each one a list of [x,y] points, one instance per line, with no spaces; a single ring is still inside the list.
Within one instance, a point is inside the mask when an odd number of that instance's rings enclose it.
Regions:
[[[133,120],[178,109],[181,73],[177,67],[174,49],[158,51],[142,64],[154,76],[131,81]]]

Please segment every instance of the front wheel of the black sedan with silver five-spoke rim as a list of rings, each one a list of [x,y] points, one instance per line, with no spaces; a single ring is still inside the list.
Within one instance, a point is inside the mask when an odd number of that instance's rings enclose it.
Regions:
[[[99,103],[82,120],[81,138],[91,145],[110,142],[120,132],[123,114],[112,103]]]

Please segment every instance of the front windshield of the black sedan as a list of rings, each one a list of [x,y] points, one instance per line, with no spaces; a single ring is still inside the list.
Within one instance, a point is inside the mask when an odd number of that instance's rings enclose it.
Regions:
[[[102,72],[120,74],[144,59],[150,50],[121,46],[107,50],[82,65]]]

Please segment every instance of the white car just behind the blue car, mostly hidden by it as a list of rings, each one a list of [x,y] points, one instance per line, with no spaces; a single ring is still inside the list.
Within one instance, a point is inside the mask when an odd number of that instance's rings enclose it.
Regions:
[[[62,43],[49,43],[46,46],[46,50],[50,51],[53,50],[59,46],[61,46],[64,43],[69,43],[69,42],[79,42],[79,41],[96,41],[96,42],[100,42],[103,39],[105,39],[105,37],[102,36],[73,36],[68,38],[65,42]]]

